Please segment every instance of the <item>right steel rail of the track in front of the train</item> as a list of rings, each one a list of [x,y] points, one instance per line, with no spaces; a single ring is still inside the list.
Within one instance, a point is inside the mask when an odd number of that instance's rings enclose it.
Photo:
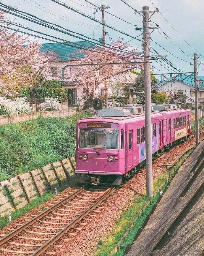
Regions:
[[[76,225],[77,222],[79,222],[83,217],[85,217],[90,211],[92,211],[96,206],[98,206],[103,200],[105,200],[109,195],[111,195],[116,190],[116,187],[113,187],[111,190],[106,189],[106,191],[103,193],[104,195],[95,203],[93,203],[92,206],[90,206],[86,211],[84,211],[82,214],[80,214],[78,217],[72,220],[67,226],[65,226],[62,230],[60,230],[55,236],[53,236],[50,240],[48,240],[43,246],[38,248],[33,254],[30,256],[39,256],[43,252],[46,251],[54,242],[56,242],[61,236],[63,236],[69,229],[71,229],[74,225]]]

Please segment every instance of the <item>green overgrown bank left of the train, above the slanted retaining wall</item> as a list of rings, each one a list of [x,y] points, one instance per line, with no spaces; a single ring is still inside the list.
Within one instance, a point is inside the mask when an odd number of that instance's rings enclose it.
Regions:
[[[66,118],[39,117],[0,127],[0,181],[74,155],[76,122],[89,113]]]

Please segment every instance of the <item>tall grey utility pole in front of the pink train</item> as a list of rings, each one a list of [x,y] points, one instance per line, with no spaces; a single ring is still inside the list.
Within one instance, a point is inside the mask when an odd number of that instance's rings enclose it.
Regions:
[[[152,177],[152,118],[151,118],[151,80],[150,80],[150,29],[149,7],[143,6],[143,45],[144,45],[144,84],[145,84],[145,149],[147,196],[153,197]]]

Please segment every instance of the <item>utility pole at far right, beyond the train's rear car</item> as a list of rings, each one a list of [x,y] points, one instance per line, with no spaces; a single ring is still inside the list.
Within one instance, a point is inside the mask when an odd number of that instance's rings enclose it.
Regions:
[[[195,88],[195,144],[199,142],[199,123],[198,123],[198,96],[197,96],[197,54],[193,54],[194,61],[194,88]]]

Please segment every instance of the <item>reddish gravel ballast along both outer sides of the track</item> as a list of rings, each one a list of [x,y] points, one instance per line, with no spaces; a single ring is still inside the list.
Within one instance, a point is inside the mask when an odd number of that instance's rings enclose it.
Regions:
[[[203,136],[201,135],[200,139],[203,139],[202,137]],[[195,138],[191,139],[191,145],[194,141]],[[166,173],[166,167],[159,167],[160,165],[168,163],[171,164],[180,154],[186,151],[189,146],[189,141],[179,144],[153,161],[153,180],[158,178],[161,174]],[[73,190],[75,190],[75,188],[68,188],[64,190],[53,199],[44,203],[43,207],[49,207],[50,204],[55,203],[54,201],[60,200],[59,198],[67,195],[67,191],[70,192]],[[121,213],[133,204],[135,197],[138,197],[138,195],[144,195],[145,190],[146,170],[143,168],[135,177],[129,180],[126,184],[123,184],[117,192],[114,192],[114,194],[109,197],[105,203],[101,204],[101,208],[98,207],[95,211],[91,212],[89,216],[85,217],[86,219],[91,220],[82,220],[80,222],[86,225],[80,225],[79,223],[75,225],[75,229],[69,231],[69,234],[62,237],[63,239],[69,239],[69,241],[64,241],[62,239],[55,243],[62,245],[63,247],[52,247],[50,251],[55,252],[56,256],[94,255],[94,252],[97,249],[97,242],[106,240],[107,235],[114,230]],[[85,197],[86,195],[84,195],[84,199]],[[25,219],[30,219],[32,218],[32,215],[37,215],[38,213],[36,213],[36,211],[41,211],[41,207],[42,206],[38,206],[34,210],[30,211],[30,213],[20,217],[18,220],[15,220],[12,224],[7,225],[7,227],[0,230],[0,234],[6,234],[9,228],[17,228],[17,223],[24,223]],[[51,219],[49,221],[51,222]],[[66,222],[66,219],[64,222]],[[55,230],[52,230],[51,232],[55,232]],[[27,236],[32,237],[33,235],[27,234]],[[33,250],[33,248],[29,250]],[[12,254],[5,253],[4,255],[11,256]]]

